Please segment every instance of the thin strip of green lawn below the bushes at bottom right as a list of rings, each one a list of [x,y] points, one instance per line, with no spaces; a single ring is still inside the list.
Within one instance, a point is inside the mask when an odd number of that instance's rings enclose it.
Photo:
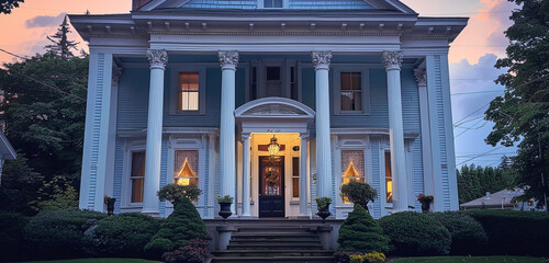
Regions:
[[[529,256],[496,255],[496,256],[430,256],[396,259],[391,263],[540,263],[544,259]]]

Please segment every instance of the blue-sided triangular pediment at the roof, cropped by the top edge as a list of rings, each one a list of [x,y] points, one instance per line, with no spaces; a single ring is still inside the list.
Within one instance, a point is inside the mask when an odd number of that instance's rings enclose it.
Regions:
[[[139,11],[166,9],[264,9],[266,0],[152,0]],[[268,0],[272,1],[272,0]],[[393,10],[415,13],[397,0],[281,0],[282,10]],[[277,10],[277,9],[269,9]]]

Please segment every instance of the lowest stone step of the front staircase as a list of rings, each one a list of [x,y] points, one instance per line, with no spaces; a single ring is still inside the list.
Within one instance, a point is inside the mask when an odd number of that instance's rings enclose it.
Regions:
[[[332,256],[330,250],[295,250],[295,251],[272,251],[272,250],[224,250],[213,251],[215,256]]]

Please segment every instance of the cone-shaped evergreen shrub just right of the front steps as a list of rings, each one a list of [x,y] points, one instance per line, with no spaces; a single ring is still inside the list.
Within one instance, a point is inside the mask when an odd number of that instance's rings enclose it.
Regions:
[[[355,209],[341,224],[337,242],[340,251],[362,253],[389,251],[389,238],[383,236],[378,222],[359,204],[355,205]]]

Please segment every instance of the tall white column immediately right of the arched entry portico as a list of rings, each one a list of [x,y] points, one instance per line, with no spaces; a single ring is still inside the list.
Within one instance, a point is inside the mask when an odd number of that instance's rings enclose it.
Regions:
[[[316,195],[332,196],[332,149],[329,142],[329,62],[332,53],[313,52],[316,76]]]

